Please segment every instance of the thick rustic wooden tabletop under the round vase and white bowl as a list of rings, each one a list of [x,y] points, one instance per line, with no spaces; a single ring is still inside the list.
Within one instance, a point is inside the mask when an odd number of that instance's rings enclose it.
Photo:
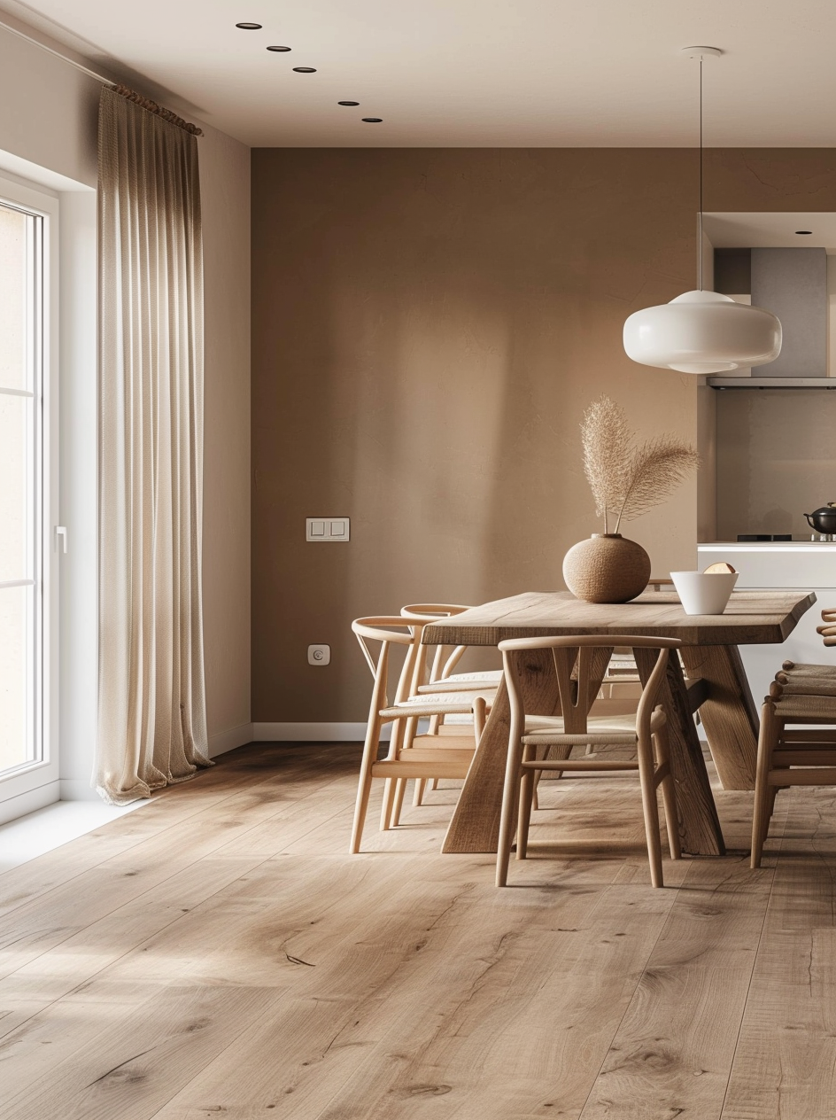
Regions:
[[[685,645],[783,642],[816,601],[811,591],[734,591],[722,615],[686,615],[675,591],[646,591],[631,603],[582,603],[569,591],[526,591],[433,623],[425,643],[498,645],[548,634],[640,634]]]

